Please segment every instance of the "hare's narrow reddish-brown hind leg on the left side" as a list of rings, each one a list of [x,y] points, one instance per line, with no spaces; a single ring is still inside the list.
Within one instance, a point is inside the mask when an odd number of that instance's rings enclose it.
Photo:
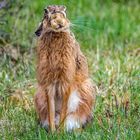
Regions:
[[[48,104],[47,96],[42,90],[38,90],[34,97],[36,112],[39,117],[40,124],[47,131],[49,129],[49,119],[48,119]]]

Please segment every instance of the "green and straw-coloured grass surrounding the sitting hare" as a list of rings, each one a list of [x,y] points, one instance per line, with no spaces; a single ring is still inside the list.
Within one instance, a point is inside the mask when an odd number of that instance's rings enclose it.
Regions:
[[[8,2],[0,10],[0,139],[140,139],[139,0]],[[82,132],[46,134],[37,125],[34,31],[49,4],[67,6],[99,88],[94,121]]]

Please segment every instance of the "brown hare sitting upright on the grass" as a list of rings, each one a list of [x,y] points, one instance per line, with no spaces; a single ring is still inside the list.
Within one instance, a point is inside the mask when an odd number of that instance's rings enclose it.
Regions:
[[[85,126],[92,119],[95,87],[88,75],[65,6],[48,6],[37,31],[37,81],[35,108],[46,129],[66,131]]]

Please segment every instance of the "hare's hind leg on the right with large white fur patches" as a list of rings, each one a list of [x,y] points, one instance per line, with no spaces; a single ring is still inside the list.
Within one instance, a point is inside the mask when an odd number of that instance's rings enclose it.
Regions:
[[[85,80],[68,100],[67,131],[85,126],[92,120],[92,107],[95,104],[95,87],[90,79]]]

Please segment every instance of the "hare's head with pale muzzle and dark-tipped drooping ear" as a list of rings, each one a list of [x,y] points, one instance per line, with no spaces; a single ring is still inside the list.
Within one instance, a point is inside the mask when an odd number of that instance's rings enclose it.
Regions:
[[[48,6],[44,9],[44,17],[39,28],[35,32],[37,36],[42,31],[62,32],[69,29],[70,21],[66,17],[65,6]]]

